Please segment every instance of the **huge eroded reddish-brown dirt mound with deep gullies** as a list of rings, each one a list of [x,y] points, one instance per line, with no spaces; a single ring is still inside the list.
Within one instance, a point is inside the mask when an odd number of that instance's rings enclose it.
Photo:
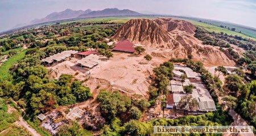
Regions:
[[[184,20],[170,18],[131,19],[113,36],[114,40],[130,40],[143,44],[152,56],[188,58],[202,61],[206,66],[234,66],[235,63],[219,49],[203,45],[193,35],[196,27]]]

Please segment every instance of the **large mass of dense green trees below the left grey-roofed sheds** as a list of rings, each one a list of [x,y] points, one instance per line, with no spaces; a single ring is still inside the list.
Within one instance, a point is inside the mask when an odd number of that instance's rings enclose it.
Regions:
[[[73,80],[71,75],[61,75],[59,80],[48,79],[48,71],[40,65],[40,58],[49,54],[36,48],[27,50],[26,57],[12,69],[13,82],[4,80],[0,83],[1,96],[12,97],[32,114],[92,97],[89,88]]]

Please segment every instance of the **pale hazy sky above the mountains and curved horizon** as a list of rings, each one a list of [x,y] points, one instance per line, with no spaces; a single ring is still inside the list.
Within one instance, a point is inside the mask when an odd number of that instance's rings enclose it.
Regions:
[[[256,0],[0,0],[0,31],[67,8],[110,7],[222,20],[256,28]]]

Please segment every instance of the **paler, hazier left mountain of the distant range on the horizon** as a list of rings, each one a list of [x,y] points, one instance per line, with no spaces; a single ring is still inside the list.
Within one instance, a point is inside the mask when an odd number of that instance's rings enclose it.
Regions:
[[[88,9],[85,11],[82,11],[82,10],[76,11],[68,8],[67,10],[64,10],[61,12],[53,12],[47,15],[46,18],[34,19],[30,23],[36,24],[36,23],[50,22],[54,20],[77,18],[77,16],[80,16],[82,14],[88,14],[89,12],[92,12],[92,10]]]

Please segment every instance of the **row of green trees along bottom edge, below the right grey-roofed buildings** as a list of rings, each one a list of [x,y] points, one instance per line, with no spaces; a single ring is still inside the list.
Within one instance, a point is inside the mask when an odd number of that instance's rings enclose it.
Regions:
[[[232,120],[222,116],[222,112],[206,113],[199,116],[185,116],[172,119],[160,118],[148,122],[131,120],[122,123],[114,118],[101,130],[101,135],[152,135],[153,126],[218,126],[229,125]],[[212,134],[214,135],[214,134]]]

